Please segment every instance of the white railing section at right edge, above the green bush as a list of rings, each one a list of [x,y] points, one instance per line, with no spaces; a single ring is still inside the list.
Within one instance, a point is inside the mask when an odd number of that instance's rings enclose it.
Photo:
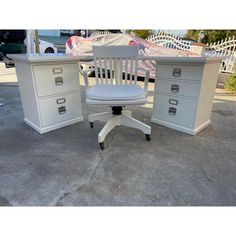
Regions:
[[[205,50],[207,56],[223,56],[220,72],[233,73],[236,70],[236,39],[224,40],[208,44]]]

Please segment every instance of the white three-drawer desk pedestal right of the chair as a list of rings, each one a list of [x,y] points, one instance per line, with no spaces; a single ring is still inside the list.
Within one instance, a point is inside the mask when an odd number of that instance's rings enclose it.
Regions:
[[[208,126],[221,60],[157,58],[151,121],[192,135]]]

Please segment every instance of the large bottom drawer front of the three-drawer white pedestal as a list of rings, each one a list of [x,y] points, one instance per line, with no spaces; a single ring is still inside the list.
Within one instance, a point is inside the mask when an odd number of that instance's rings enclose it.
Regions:
[[[154,106],[153,118],[193,127],[197,101],[158,94]]]

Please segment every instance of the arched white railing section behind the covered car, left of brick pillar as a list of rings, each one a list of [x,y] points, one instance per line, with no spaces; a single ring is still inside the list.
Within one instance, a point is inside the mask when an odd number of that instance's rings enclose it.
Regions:
[[[189,51],[191,49],[191,42],[165,32],[153,34],[146,40],[168,48],[180,49],[184,51]]]

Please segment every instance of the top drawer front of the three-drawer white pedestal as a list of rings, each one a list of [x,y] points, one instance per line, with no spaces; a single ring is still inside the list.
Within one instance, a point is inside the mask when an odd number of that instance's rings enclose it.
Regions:
[[[186,80],[201,80],[202,66],[186,66],[186,65],[158,65],[158,77],[167,77],[173,79],[186,79]]]

